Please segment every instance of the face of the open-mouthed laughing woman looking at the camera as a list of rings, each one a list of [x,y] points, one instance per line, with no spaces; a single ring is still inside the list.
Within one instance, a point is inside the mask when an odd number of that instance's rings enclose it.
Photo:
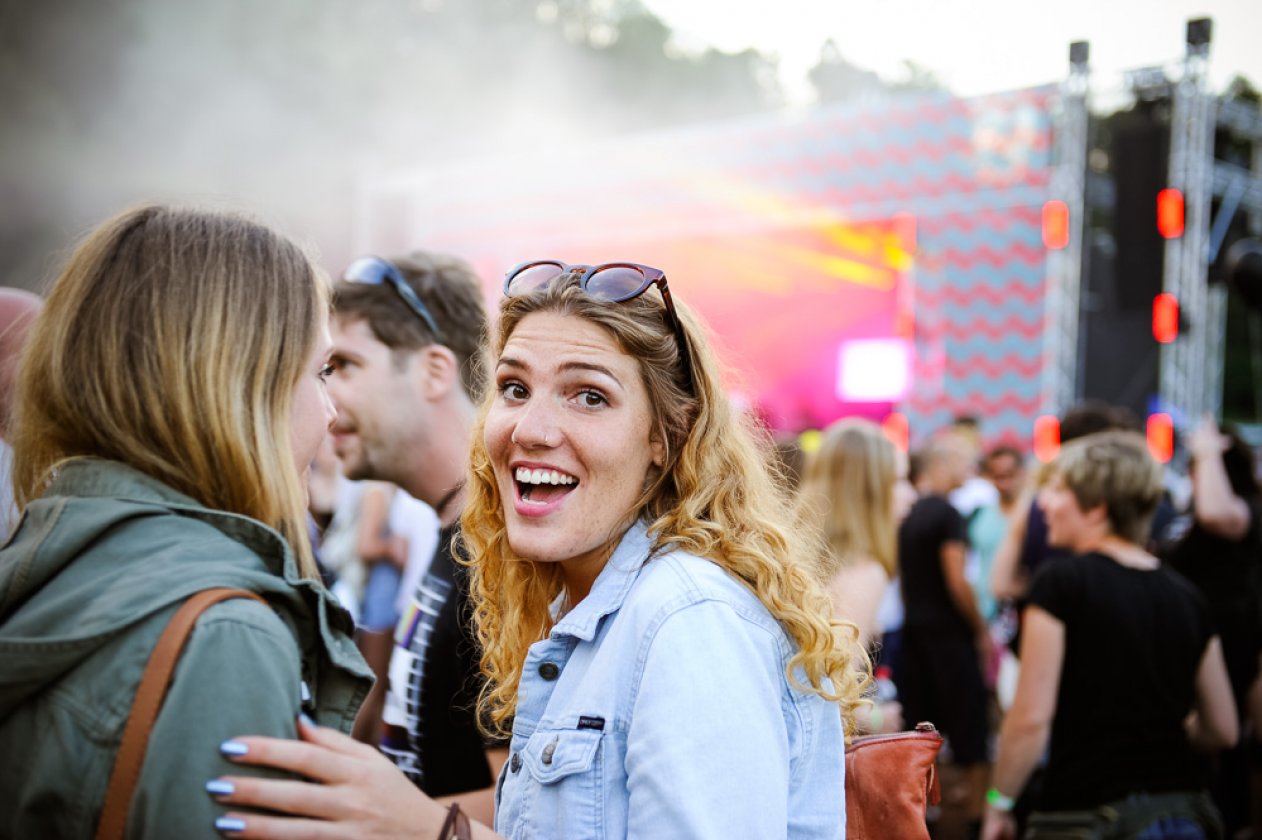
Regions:
[[[483,441],[512,551],[599,574],[663,463],[639,363],[604,330],[549,312],[521,319],[495,368]]]

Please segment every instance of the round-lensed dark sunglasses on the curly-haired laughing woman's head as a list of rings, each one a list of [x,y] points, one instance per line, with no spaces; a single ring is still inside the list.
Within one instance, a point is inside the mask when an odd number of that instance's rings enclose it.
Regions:
[[[505,275],[504,296],[515,298],[530,294],[548,286],[553,280],[567,274],[579,276],[579,288],[584,293],[601,300],[608,300],[610,303],[622,303],[623,300],[639,298],[650,286],[658,286],[661,299],[666,304],[666,320],[670,322],[670,328],[675,332],[675,341],[679,343],[679,354],[684,359],[688,390],[693,390],[693,358],[692,353],[688,352],[688,338],[684,335],[684,327],[679,322],[675,303],[670,299],[670,286],[666,285],[666,275],[661,269],[637,265],[635,262],[569,265],[560,260],[533,260],[522,262]]]

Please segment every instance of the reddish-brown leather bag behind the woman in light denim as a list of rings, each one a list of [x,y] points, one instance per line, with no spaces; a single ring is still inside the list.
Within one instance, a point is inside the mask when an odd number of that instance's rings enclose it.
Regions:
[[[852,740],[846,748],[846,836],[929,840],[925,808],[941,798],[935,767],[941,745],[930,723]]]

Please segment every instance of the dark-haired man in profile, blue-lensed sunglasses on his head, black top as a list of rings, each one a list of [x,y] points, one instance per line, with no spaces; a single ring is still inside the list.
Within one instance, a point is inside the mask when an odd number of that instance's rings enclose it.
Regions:
[[[433,507],[443,527],[392,638],[384,639],[391,652],[380,747],[425,793],[454,797],[490,821],[507,750],[478,730],[482,677],[468,573],[451,554],[486,385],[482,289],[454,257],[363,257],[334,286],[333,308],[328,388],[342,469],[398,484]]]

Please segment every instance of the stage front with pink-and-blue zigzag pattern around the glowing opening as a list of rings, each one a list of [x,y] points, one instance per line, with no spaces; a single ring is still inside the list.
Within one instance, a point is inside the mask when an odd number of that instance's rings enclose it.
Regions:
[[[872,289],[888,294],[900,276],[910,290],[900,300],[911,306],[915,363],[911,392],[896,407],[914,441],[973,414],[987,439],[1027,445],[1042,370],[1040,212],[1051,180],[1054,96],[1040,87],[905,97],[597,143],[559,132],[540,154],[370,184],[367,193],[409,226],[409,242],[376,250],[423,243],[461,254],[493,277],[530,257],[651,256],[658,248],[689,266],[671,276],[678,298],[699,301],[707,317],[707,306],[743,320],[757,314],[767,330],[780,306],[781,319],[800,317],[789,306],[793,294],[820,301],[811,304],[818,313],[832,288],[838,306],[849,308]],[[891,219],[909,217],[915,250],[904,266],[906,254],[882,257],[872,243],[883,241],[878,226],[893,230]],[[877,232],[863,233],[864,226]],[[702,257],[698,243],[713,247]],[[724,283],[729,298],[764,295],[762,310],[723,300]],[[794,329],[803,339],[809,327],[769,332],[753,367],[794,378],[781,351]],[[772,420],[786,430],[828,420],[819,410],[795,411]]]

